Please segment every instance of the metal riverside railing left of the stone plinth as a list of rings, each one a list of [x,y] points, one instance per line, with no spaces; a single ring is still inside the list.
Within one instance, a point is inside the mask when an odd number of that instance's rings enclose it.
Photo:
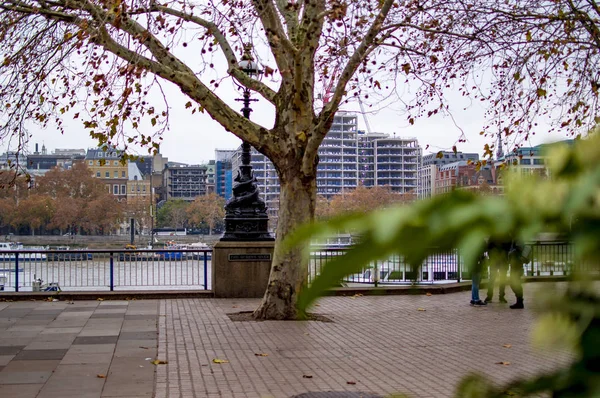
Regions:
[[[0,251],[0,290],[210,289],[212,250]]]

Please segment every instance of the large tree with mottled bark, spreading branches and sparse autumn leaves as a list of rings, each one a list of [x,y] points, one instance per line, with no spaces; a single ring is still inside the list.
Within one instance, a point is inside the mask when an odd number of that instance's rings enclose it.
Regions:
[[[479,81],[469,73],[512,34],[504,28],[502,37],[494,36],[495,20],[488,11],[496,1],[485,3],[488,8],[475,0],[4,1],[2,134],[26,138],[29,120],[42,126],[54,122],[60,129],[61,115],[73,112],[101,145],[139,143],[156,149],[159,138],[145,133],[142,124],[149,122],[160,133],[168,112],[150,103],[147,94],[160,82],[174,84],[189,97],[191,112],[207,112],[275,165],[281,185],[276,245],[255,316],[294,318],[307,266],[301,249],[285,253],[281,241],[314,216],[317,149],[339,105],[359,95],[364,101],[390,102],[413,82],[418,85],[414,98],[402,101],[409,123],[445,112],[442,94],[452,80],[462,79],[463,92],[469,92],[469,78]],[[540,9],[532,0],[527,3]],[[576,18],[571,23],[584,33],[585,23]],[[242,49],[252,43],[266,54],[261,63],[273,66],[264,67],[272,83],[252,80],[238,66]],[[227,65],[225,74],[219,64]],[[226,79],[268,102],[273,124],[247,120],[220,98],[218,87]],[[320,102],[317,91],[330,81],[334,84]]]

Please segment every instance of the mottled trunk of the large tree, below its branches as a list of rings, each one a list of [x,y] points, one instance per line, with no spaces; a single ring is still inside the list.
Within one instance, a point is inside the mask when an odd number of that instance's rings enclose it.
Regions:
[[[298,169],[280,175],[279,218],[275,253],[269,284],[256,319],[296,319],[298,293],[308,276],[308,259],[302,248],[284,250],[281,242],[299,225],[312,219],[316,201],[316,180],[303,179]]]

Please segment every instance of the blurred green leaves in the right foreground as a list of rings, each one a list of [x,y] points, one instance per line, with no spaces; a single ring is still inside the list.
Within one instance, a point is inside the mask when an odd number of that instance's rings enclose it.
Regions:
[[[305,244],[338,230],[362,236],[347,255],[328,262],[303,289],[298,300],[300,313],[344,276],[393,253],[418,267],[434,251],[458,248],[465,265],[477,267],[486,238],[529,240],[541,232],[558,233],[574,243],[576,262],[586,263],[588,272],[597,273],[600,139],[593,136],[577,140],[572,147],[555,146],[548,155],[551,179],[507,175],[504,197],[457,190],[410,207],[355,214],[299,229],[288,240],[289,245]],[[540,328],[542,340],[551,335],[570,336],[562,341],[570,342],[577,353],[570,367],[504,387],[479,375],[469,376],[459,386],[457,396],[529,396],[541,391],[552,391],[554,397],[600,396],[600,297],[582,276],[575,273],[567,291],[552,296],[541,318],[542,326],[546,326]]]

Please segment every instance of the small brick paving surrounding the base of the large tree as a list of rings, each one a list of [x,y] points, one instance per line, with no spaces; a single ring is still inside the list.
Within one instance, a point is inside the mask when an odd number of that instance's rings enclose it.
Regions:
[[[315,312],[332,323],[232,322],[227,317],[254,309],[257,300],[163,300],[158,355],[168,364],[157,368],[156,397],[313,392],[306,396],[317,398],[326,391],[448,397],[471,371],[498,382],[534,375],[571,358],[564,351],[530,346],[531,292],[540,285],[526,285],[527,308],[521,311],[506,304],[470,307],[470,292],[324,298]]]

